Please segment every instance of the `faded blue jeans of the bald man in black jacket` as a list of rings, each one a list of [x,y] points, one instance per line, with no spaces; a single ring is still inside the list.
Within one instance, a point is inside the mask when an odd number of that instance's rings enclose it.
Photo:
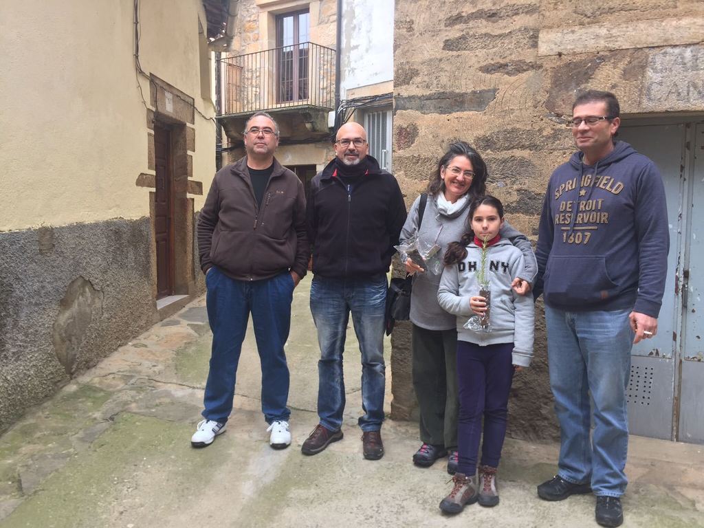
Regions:
[[[386,275],[365,279],[313,277],[310,312],[318,329],[318,416],[320,425],[337,431],[345,408],[342,353],[350,312],[362,353],[363,431],[378,431],[384,421],[384,310]]]

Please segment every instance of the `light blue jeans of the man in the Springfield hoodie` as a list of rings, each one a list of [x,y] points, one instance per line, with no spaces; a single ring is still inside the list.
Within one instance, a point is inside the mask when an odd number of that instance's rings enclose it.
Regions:
[[[628,484],[626,389],[634,338],[629,313],[545,307],[550,384],[562,438],[558,475],[591,483],[596,496],[620,497]]]

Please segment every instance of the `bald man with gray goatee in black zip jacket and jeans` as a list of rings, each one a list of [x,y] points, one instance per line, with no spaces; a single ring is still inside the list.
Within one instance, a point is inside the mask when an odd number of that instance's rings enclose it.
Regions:
[[[342,353],[349,314],[362,353],[365,458],[384,455],[384,309],[386,273],[398,244],[406,205],[396,178],[367,156],[367,133],[357,123],[340,127],[335,158],[313,178],[306,212],[313,250],[310,311],[318,328],[320,424],[301,451],[315,455],[342,438],[345,406]]]

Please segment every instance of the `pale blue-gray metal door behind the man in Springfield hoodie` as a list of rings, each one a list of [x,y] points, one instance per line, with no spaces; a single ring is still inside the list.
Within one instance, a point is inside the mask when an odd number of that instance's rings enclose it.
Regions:
[[[652,122],[651,122],[652,123]],[[704,370],[700,361],[702,320],[696,303],[700,279],[692,282],[704,257],[697,239],[704,225],[702,156],[698,164],[690,147],[695,131],[702,141],[702,125],[694,122],[624,125],[620,137],[652,159],[662,174],[670,224],[667,281],[658,318],[658,335],[633,348],[628,387],[629,428],[633,434],[681,441],[704,441]],[[697,199],[697,196],[699,197]],[[703,233],[704,235],[704,233]],[[688,285],[689,281],[689,285]],[[696,283],[696,284],[695,284]],[[688,290],[689,287],[689,290]],[[696,360],[699,358],[699,360]]]

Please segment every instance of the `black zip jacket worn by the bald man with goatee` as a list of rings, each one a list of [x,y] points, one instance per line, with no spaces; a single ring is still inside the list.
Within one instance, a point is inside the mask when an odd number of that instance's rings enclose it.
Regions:
[[[396,178],[367,156],[365,175],[352,185],[337,177],[334,158],[310,183],[306,222],[313,273],[371,277],[389,271],[406,204]]]

